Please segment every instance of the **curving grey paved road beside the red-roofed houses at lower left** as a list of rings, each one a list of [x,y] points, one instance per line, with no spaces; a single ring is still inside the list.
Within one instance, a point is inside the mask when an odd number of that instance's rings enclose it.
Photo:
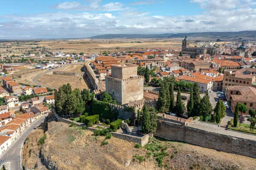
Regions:
[[[8,148],[7,151],[0,157],[1,160],[4,160],[3,163],[10,163],[10,168],[8,170],[21,170],[21,148],[27,136],[34,131],[34,128],[39,126],[47,117],[37,119],[21,134],[21,136]],[[8,166],[8,165],[7,165]]]

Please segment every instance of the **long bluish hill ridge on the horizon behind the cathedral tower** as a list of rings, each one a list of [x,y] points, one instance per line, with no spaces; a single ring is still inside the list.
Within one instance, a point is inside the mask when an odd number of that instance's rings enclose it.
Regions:
[[[211,37],[211,38],[237,38],[237,37],[256,37],[256,30],[254,31],[239,31],[239,32],[203,32],[203,33],[165,33],[165,34],[104,34],[99,36],[91,36],[91,39],[135,39],[135,38],[180,38],[185,35],[189,37]]]

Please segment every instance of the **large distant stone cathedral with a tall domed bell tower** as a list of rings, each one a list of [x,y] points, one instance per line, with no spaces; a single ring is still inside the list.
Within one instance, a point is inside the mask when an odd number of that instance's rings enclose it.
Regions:
[[[199,54],[209,54],[211,56],[216,55],[215,47],[190,47],[190,40],[187,35],[182,41],[181,51],[183,54],[189,54],[191,57],[195,57]]]

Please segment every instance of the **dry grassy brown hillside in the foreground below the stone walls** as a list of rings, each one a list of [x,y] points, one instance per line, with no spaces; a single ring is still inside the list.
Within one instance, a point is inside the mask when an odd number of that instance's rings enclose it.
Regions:
[[[50,121],[41,154],[48,157],[59,170],[255,170],[256,159],[229,154],[212,149],[173,141],[153,139],[153,143],[167,147],[163,167],[158,167],[156,157],[151,156],[139,163],[131,161],[124,167],[125,160],[132,160],[135,154],[146,155],[146,148],[136,149],[134,143],[112,137],[109,144],[102,145],[104,137],[93,136],[93,132],[80,127],[70,127],[63,122]],[[23,165],[27,168],[45,168],[39,158],[39,138],[43,130],[31,133],[23,146]],[[37,166],[35,166],[37,164]],[[239,165],[240,167],[237,167]],[[44,169],[43,169],[44,170]]]

